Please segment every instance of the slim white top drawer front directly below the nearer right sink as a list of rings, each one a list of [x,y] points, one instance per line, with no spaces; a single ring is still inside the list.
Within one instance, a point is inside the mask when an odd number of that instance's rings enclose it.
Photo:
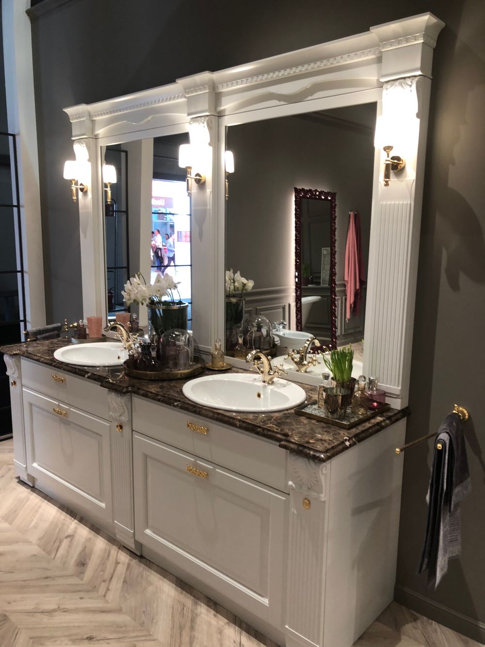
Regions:
[[[276,443],[133,396],[133,430],[288,492],[286,452]]]

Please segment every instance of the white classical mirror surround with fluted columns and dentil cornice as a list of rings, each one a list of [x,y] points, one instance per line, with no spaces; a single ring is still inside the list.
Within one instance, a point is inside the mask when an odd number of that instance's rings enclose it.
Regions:
[[[406,165],[399,175],[391,173],[391,182],[385,186],[385,153],[375,151],[363,371],[378,375],[387,402],[397,408],[405,406],[433,49],[443,27],[440,19],[426,12],[347,38],[65,108],[76,159],[91,162],[89,188],[78,200],[84,315],[105,316],[99,163],[103,145],[183,131],[189,131],[192,144],[209,144],[211,155],[205,168],[200,168],[206,184],[192,194],[197,230],[192,247],[197,267],[193,331],[201,353],[209,356],[215,338],[224,333],[225,127],[377,101],[378,116],[382,113],[392,140],[389,145],[405,158]],[[402,133],[402,143],[394,141]],[[237,160],[235,166],[237,172]]]

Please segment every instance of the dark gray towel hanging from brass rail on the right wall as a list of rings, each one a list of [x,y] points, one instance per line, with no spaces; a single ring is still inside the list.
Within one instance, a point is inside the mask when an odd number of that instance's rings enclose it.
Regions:
[[[442,449],[437,444],[442,444]],[[449,413],[438,429],[433,452],[426,536],[418,573],[428,571],[428,587],[440,583],[448,560],[461,551],[460,501],[471,490],[461,419]]]

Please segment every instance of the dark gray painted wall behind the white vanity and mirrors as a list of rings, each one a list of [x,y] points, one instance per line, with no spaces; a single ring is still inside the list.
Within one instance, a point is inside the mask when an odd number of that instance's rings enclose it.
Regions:
[[[131,0],[70,0],[40,16],[32,33],[47,317],[52,322],[81,314],[78,215],[62,179],[63,162],[72,157],[63,107],[358,34],[426,10],[447,26],[433,65],[408,439],[437,429],[454,402],[468,406],[473,492],[462,507],[462,556],[450,564],[436,592],[426,591],[425,579],[415,573],[426,520],[429,446],[405,453],[396,590],[414,608],[480,637],[476,622],[485,623],[483,3],[250,0],[241,7],[222,0],[210,5],[144,0],[135,8]]]

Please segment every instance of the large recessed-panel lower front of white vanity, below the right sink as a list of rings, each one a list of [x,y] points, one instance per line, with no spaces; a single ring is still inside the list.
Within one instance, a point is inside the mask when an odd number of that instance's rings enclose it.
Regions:
[[[276,625],[288,496],[133,435],[136,539]]]

